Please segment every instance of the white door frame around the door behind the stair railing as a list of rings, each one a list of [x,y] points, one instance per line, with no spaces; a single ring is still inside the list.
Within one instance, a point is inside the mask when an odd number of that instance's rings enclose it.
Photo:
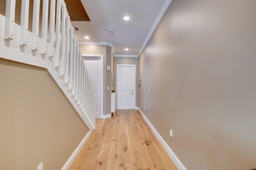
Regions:
[[[81,54],[83,60],[85,57],[100,57],[100,119],[103,119],[103,86],[104,86],[104,54]]]

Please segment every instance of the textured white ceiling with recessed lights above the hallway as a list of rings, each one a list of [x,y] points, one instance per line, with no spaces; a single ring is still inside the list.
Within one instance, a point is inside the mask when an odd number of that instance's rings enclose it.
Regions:
[[[73,1],[72,1],[73,2]],[[72,21],[81,44],[112,46],[114,55],[140,55],[171,0],[81,0],[90,21]],[[124,16],[130,20],[125,21]],[[113,29],[114,32],[109,30]],[[86,40],[84,37],[90,37]],[[129,50],[124,50],[128,48]]]

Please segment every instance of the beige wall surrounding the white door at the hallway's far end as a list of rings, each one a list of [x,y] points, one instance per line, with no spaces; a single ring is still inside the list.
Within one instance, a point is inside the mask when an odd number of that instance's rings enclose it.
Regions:
[[[135,64],[136,65],[136,106],[138,107],[138,75],[139,59],[138,57],[114,57],[114,90],[116,91],[116,65],[117,64]]]

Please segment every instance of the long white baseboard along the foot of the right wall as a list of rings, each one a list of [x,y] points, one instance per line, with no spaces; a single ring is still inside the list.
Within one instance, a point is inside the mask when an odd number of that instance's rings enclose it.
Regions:
[[[158,140],[160,141],[160,143],[162,144],[162,146],[164,147],[164,149],[166,150],[166,152],[168,153],[168,155],[170,156],[170,158],[172,159],[172,161],[174,162],[174,164],[177,166],[177,168],[179,170],[187,170],[185,168],[185,166],[180,162],[180,160],[178,159],[178,157],[174,154],[174,152],[172,152],[172,149],[168,146],[168,144],[164,141],[164,139],[162,138],[162,136],[160,136],[160,134],[156,131],[156,129],[154,128],[154,126],[150,123],[150,121],[148,120],[148,118],[144,115],[144,113],[140,110],[140,108],[138,108],[138,110],[140,111],[140,114],[142,115],[142,117],[145,119],[145,121],[148,123],[148,126],[151,128],[151,130],[154,132],[154,134],[156,135],[156,137],[158,138]]]

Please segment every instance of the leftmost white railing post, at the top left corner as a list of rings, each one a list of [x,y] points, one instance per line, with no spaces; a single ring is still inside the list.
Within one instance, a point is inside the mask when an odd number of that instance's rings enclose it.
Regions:
[[[6,0],[4,39],[9,41],[14,39],[15,4],[16,0]]]

